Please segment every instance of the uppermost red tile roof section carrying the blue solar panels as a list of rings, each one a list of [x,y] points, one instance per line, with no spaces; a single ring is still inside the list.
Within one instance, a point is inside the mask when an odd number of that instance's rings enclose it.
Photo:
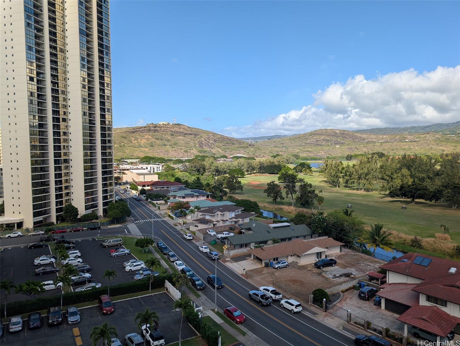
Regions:
[[[431,262],[427,266],[422,266],[421,264],[415,264],[414,260],[418,257],[425,257],[431,259]],[[402,260],[408,260],[403,261]],[[400,274],[408,275],[413,278],[419,278],[422,280],[428,280],[432,278],[438,278],[440,276],[448,275],[450,268],[457,268],[457,271],[460,270],[460,262],[446,260],[444,258],[418,254],[414,252],[409,252],[396,260],[390,261],[380,268],[389,270],[391,272],[397,272]]]

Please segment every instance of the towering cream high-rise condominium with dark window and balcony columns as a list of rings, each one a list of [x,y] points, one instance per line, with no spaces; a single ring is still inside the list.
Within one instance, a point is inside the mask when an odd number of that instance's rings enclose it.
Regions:
[[[0,0],[5,216],[58,222],[114,199],[108,0]]]

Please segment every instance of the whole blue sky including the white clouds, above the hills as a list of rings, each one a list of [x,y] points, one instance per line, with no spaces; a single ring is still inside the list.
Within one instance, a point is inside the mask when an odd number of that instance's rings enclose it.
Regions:
[[[459,1],[112,0],[114,126],[175,117],[259,136],[452,121],[459,14]]]

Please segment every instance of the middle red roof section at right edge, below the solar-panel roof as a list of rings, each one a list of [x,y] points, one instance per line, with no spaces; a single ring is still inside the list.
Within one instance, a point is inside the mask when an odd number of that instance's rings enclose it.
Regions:
[[[460,273],[425,280],[415,286],[414,291],[460,305]]]

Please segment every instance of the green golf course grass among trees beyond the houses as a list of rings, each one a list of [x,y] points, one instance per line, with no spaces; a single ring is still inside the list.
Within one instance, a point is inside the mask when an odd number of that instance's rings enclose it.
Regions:
[[[434,237],[435,233],[440,233],[440,224],[445,224],[450,228],[456,227],[458,224],[459,210],[452,209],[447,203],[417,201],[415,204],[411,204],[408,200],[391,199],[378,191],[362,192],[357,191],[357,187],[336,188],[324,182],[324,178],[318,174],[318,169],[313,169],[312,176],[300,176],[310,182],[316,190],[323,191],[324,204],[322,204],[321,210],[324,210],[326,214],[334,209],[344,209],[347,204],[352,204],[353,210],[355,210],[353,215],[368,224],[378,222],[393,231],[424,238]],[[264,205],[263,209],[269,209],[282,216],[293,216],[293,211],[286,213],[282,209],[276,209],[277,206],[290,207],[291,200],[284,199],[275,204],[263,193],[268,182],[272,180],[278,182],[277,175],[246,176],[240,180],[244,190],[234,193],[235,197],[267,204]],[[375,188],[378,189],[378,185]],[[401,209],[402,205],[406,205],[407,210]],[[298,210],[301,209],[298,208]],[[314,205],[314,209],[318,210],[318,205]],[[449,235],[454,242],[460,243],[460,232],[452,232]]]

